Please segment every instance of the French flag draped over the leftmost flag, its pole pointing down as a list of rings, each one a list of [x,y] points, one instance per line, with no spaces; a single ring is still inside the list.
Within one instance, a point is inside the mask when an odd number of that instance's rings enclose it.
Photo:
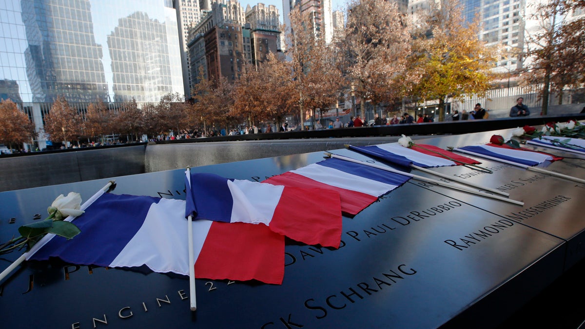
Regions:
[[[339,248],[342,213],[337,191],[276,186],[216,174],[185,172],[185,217],[263,224],[308,245]]]

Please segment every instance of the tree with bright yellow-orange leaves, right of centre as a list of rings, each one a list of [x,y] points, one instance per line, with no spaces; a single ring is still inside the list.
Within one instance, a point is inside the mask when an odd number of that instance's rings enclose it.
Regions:
[[[439,101],[438,121],[445,119],[450,98],[485,95],[491,87],[497,49],[477,38],[479,28],[478,21],[465,23],[459,0],[444,0],[440,6],[431,4],[415,39],[411,59],[421,76],[413,93],[419,99]]]

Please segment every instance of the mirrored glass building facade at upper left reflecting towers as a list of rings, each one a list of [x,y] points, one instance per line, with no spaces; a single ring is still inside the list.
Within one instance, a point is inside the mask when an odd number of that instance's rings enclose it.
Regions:
[[[0,97],[37,128],[58,95],[84,111],[183,94],[180,56],[170,1],[0,1]]]

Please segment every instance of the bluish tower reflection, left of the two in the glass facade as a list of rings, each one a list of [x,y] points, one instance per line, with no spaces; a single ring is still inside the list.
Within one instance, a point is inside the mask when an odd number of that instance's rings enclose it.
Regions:
[[[32,101],[52,102],[57,95],[70,102],[105,101],[102,49],[95,43],[90,2],[21,0],[20,8]]]

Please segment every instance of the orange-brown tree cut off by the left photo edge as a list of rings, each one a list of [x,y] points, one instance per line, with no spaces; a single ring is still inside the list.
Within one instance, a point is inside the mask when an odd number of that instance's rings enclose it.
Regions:
[[[33,138],[35,126],[11,100],[0,102],[0,122],[0,142],[8,145],[9,149],[16,145],[22,146],[22,143],[30,142]]]

